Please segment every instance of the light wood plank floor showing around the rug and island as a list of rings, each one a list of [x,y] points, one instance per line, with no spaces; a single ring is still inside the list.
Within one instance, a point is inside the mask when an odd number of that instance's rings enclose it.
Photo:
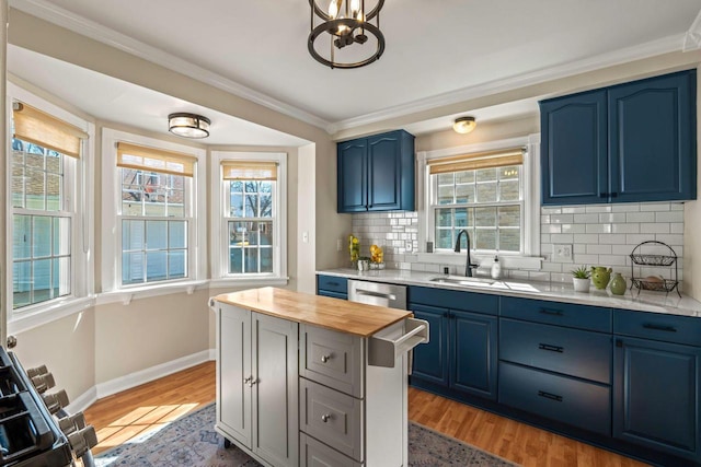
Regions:
[[[97,454],[215,400],[215,364],[203,363],[97,400],[85,419]],[[639,467],[644,464],[494,413],[410,388],[409,418],[526,467]]]

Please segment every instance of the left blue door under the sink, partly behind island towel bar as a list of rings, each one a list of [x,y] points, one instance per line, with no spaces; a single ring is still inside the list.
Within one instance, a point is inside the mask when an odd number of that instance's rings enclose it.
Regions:
[[[416,346],[412,380],[448,386],[448,311],[427,305],[412,305],[418,319],[428,322],[428,343]]]

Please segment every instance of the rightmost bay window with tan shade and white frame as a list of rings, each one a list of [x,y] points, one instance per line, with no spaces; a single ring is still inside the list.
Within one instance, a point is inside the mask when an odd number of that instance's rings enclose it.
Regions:
[[[218,279],[266,280],[286,276],[286,154],[214,152],[212,258]],[[214,184],[212,184],[214,185]]]

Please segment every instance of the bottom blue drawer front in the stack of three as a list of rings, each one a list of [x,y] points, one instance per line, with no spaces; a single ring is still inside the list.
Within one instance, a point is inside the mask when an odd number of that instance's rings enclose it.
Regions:
[[[611,435],[609,386],[499,362],[499,402]]]

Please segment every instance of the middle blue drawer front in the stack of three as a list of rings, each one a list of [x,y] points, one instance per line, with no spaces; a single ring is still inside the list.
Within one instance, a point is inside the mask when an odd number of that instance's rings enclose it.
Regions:
[[[611,383],[611,336],[536,323],[499,320],[499,358]]]

